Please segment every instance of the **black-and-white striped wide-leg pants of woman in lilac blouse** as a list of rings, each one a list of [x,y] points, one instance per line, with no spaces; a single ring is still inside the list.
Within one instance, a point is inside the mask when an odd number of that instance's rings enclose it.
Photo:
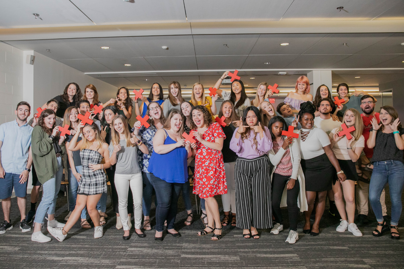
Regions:
[[[236,182],[237,227],[272,228],[271,183],[267,155],[255,159],[238,158]]]

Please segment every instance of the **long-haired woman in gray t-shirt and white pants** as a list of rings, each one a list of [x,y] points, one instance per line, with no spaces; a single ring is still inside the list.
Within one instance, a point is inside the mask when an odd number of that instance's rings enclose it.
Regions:
[[[137,137],[131,137],[126,119],[118,115],[112,120],[112,140],[109,144],[109,158],[115,168],[115,187],[118,193],[118,209],[124,229],[123,239],[128,240],[128,191],[133,195],[133,215],[135,217],[135,232],[139,237],[145,237],[140,229],[142,221],[143,178],[137,162],[137,148],[145,153],[149,149]]]

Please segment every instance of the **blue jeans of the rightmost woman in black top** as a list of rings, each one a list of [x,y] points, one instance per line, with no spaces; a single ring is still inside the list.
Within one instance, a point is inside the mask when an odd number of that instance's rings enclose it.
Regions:
[[[380,195],[385,185],[389,183],[391,200],[391,225],[398,225],[401,216],[401,194],[404,184],[404,164],[400,161],[389,160],[373,163],[372,177],[369,185],[369,200],[377,221],[383,221]]]

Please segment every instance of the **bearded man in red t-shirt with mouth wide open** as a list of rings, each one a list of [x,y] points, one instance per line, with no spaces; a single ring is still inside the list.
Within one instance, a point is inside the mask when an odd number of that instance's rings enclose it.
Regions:
[[[373,156],[373,149],[369,149],[368,145],[366,145],[366,142],[369,139],[369,133],[370,129],[372,128],[372,124],[370,121],[372,118],[376,118],[377,123],[380,123],[379,119],[379,113],[376,113],[375,110],[375,98],[372,97],[371,95],[364,95],[360,99],[360,108],[362,109],[362,114],[360,116],[362,117],[362,121],[364,124],[363,132],[362,135],[365,138],[365,147],[363,149],[364,151],[364,156],[361,155],[360,160],[362,160],[363,164],[367,164],[366,166],[362,166],[362,170],[367,170],[371,171],[373,169],[373,165],[370,164]],[[366,156],[365,156],[366,155]],[[366,171],[361,171],[362,172],[362,177],[364,179],[368,179],[370,177],[370,173],[363,173]],[[356,205],[358,209],[358,224],[365,224],[367,223],[367,216],[368,216],[368,196],[369,196],[369,184],[362,182],[362,181],[357,181],[358,185],[356,187],[356,196],[358,197],[358,203]],[[381,196],[380,196],[380,203],[381,203],[381,208],[383,212],[383,218],[387,216],[387,208],[386,208],[386,203],[385,203],[385,191],[383,189]]]

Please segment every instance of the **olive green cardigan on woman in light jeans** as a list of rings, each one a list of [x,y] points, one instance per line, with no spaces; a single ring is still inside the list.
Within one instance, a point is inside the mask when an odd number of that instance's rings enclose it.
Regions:
[[[48,134],[44,132],[41,126],[37,125],[32,130],[31,149],[32,159],[36,175],[39,182],[43,185],[49,179],[52,179],[58,170],[57,158],[53,142],[48,138]],[[60,145],[63,154],[66,152],[65,143]]]

